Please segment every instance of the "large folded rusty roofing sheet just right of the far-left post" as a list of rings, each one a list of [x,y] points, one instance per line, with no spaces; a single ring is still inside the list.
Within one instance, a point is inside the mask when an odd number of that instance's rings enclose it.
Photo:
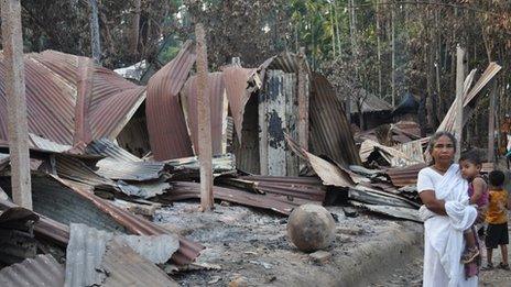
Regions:
[[[29,132],[58,144],[115,139],[145,99],[145,88],[88,58],[46,51],[24,56]],[[6,67],[0,62],[0,78]],[[3,82],[3,81],[2,81]],[[0,85],[0,139],[7,141],[7,99]],[[111,109],[116,107],[116,109]]]

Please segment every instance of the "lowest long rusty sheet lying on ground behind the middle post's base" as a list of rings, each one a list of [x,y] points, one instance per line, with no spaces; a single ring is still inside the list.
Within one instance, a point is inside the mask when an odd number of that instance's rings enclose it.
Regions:
[[[200,185],[188,181],[173,181],[172,190],[162,196],[166,200],[176,201],[184,199],[199,199]],[[304,203],[309,203],[308,200],[294,198],[290,200],[285,196],[278,195],[257,195],[248,191],[242,191],[232,188],[224,188],[214,186],[213,197],[229,202],[235,202],[242,206],[270,209],[275,212],[289,216],[291,211]]]

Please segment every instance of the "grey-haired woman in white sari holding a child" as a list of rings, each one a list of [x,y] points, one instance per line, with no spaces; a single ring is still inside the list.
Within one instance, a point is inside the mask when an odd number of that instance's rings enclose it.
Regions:
[[[477,210],[468,205],[468,183],[459,166],[453,163],[456,141],[448,132],[431,137],[432,165],[418,173],[417,190],[424,203],[420,216],[424,221],[424,287],[471,287],[478,277],[465,278],[460,262],[465,247],[464,231],[477,219]]]

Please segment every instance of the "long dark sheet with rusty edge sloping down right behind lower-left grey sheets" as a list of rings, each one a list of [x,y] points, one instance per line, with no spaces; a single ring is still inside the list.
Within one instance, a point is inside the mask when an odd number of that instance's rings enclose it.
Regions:
[[[70,180],[47,176],[44,178],[33,177],[32,183],[34,210],[41,217],[34,229],[36,236],[41,235],[66,245],[69,232],[67,227],[62,223],[84,223],[107,231],[129,231],[138,235],[173,234],[144,218],[93,195]],[[1,178],[0,184],[2,187],[9,187],[10,180]],[[11,207],[14,205],[0,200],[0,206]],[[54,218],[59,222],[41,214]],[[174,253],[172,260],[177,264],[188,264],[198,256],[203,249],[203,245],[180,236],[180,249]]]

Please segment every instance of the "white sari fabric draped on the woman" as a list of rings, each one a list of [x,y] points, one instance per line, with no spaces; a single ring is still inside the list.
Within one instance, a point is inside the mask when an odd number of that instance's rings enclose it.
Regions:
[[[466,279],[460,263],[465,247],[463,234],[474,224],[477,210],[468,205],[468,183],[461,178],[459,166],[450,165],[434,190],[435,197],[445,201],[447,216],[438,216],[425,207],[420,209],[425,221],[423,286],[477,286],[478,278]]]

